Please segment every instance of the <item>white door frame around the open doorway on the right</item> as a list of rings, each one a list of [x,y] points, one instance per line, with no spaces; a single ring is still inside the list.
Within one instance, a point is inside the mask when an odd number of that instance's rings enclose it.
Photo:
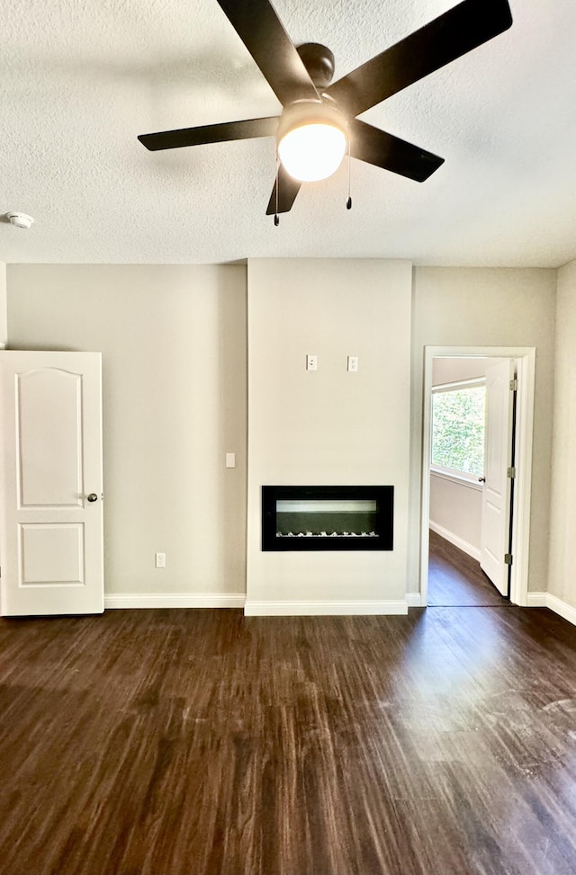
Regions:
[[[422,476],[420,489],[420,604],[428,604],[428,552],[430,527],[430,397],[432,365],[436,358],[498,358],[518,362],[516,415],[516,478],[512,503],[512,555],[510,602],[528,603],[528,560],[530,552],[530,496],[532,491],[532,437],[536,347],[534,346],[425,346],[422,418]]]

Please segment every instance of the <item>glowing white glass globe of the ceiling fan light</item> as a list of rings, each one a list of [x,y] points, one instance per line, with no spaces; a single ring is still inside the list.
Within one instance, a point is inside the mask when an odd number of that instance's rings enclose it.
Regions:
[[[347,138],[336,125],[314,122],[288,130],[278,143],[284,169],[302,183],[328,179],[346,154]]]

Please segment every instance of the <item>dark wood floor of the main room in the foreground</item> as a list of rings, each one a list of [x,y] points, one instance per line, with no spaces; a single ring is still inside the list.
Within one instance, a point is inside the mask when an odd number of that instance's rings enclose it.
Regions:
[[[545,609],[0,621],[3,875],[573,875]]]

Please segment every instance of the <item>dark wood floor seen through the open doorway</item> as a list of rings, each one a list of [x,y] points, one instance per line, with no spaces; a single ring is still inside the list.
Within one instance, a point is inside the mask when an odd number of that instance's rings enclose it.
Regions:
[[[509,605],[479,562],[430,530],[428,604],[444,607]]]

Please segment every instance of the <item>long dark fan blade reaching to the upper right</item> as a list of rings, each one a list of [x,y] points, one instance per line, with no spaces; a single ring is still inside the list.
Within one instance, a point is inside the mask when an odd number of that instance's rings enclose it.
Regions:
[[[330,85],[327,94],[352,115],[370,109],[512,23],[508,0],[464,0]]]

